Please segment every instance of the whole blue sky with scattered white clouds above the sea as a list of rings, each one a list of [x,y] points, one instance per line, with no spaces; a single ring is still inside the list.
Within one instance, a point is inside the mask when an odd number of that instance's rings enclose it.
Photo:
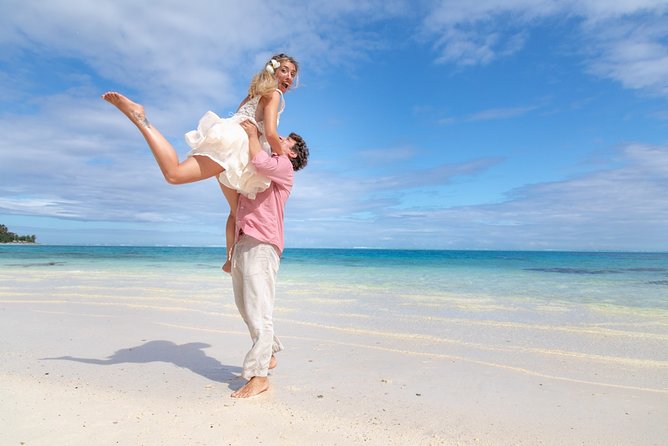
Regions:
[[[0,4],[0,223],[51,244],[222,245],[119,90],[187,153],[273,52],[309,143],[288,247],[668,250],[668,2]]]

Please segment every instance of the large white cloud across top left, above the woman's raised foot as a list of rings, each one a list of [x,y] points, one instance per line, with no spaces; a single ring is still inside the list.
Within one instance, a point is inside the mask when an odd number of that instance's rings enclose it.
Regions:
[[[7,3],[7,2],[5,2]],[[84,61],[142,100],[238,104],[273,50],[327,68],[365,57],[378,39],[369,21],[404,11],[403,2],[234,0],[9,1],[0,51]],[[345,28],[345,32],[339,32]]]

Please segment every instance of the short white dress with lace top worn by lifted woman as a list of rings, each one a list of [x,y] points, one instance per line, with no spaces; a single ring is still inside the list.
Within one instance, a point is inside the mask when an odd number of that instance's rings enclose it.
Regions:
[[[276,90],[281,93],[280,90]],[[281,109],[276,118],[280,117],[285,103],[281,93]],[[255,196],[269,187],[269,179],[255,171],[250,162],[248,153],[248,135],[239,125],[245,120],[253,122],[260,131],[262,148],[271,154],[271,147],[264,137],[264,121],[255,119],[260,96],[255,96],[239,107],[239,110],[229,118],[221,118],[212,111],[208,111],[199,120],[196,130],[186,133],[186,143],[192,149],[188,156],[206,156],[220,164],[225,169],[218,181],[223,185],[239,191],[248,198]]]

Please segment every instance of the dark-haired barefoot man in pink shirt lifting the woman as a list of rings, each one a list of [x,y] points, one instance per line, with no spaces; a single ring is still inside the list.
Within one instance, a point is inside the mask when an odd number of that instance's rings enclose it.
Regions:
[[[254,200],[240,195],[237,206],[232,286],[253,346],[243,364],[242,376],[248,382],[232,393],[234,398],[248,398],[267,390],[268,371],[276,366],[274,353],[283,350],[273,326],[276,276],[283,251],[283,215],[294,172],[306,166],[309,154],[304,140],[291,133],[288,138],[280,138],[283,153],[270,156],[262,150],[255,125],[245,121],[241,126],[248,134],[253,166],[271,180],[271,185]]]

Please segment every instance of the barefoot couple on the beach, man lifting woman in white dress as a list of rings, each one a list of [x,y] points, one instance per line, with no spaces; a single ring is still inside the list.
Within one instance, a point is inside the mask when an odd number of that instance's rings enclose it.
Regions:
[[[232,275],[235,303],[252,340],[242,372],[248,382],[232,393],[235,398],[269,388],[268,371],[276,366],[275,353],[283,349],[274,335],[273,308],[285,204],[294,172],[306,166],[309,151],[299,135],[279,136],[277,127],[283,94],[297,71],[292,57],[273,56],[253,77],[232,117],[209,111],[197,129],[186,134],[192,150],[183,162],[148,121],[143,106],[116,92],[102,96],[137,126],[167,182],[184,184],[215,176],[230,205],[223,270]]]

